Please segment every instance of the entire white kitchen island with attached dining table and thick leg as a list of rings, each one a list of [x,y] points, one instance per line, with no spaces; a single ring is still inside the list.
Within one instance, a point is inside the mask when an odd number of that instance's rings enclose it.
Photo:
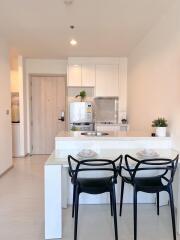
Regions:
[[[151,137],[145,132],[109,132],[105,136],[86,136],[81,132],[60,132],[55,139],[55,150],[45,164],[45,239],[62,238],[62,208],[72,204],[72,186],[68,176],[67,156],[77,157],[83,149],[91,149],[97,158],[115,159],[120,154],[137,157],[142,149],[154,149],[160,157],[174,158],[170,137]],[[120,182],[116,187],[119,201]],[[138,194],[138,202],[155,203],[153,194]],[[80,197],[81,204],[108,203],[107,194]],[[126,186],[124,202],[132,202],[132,189]],[[160,204],[168,203],[167,195],[161,193]],[[178,214],[179,216],[179,214]],[[179,228],[178,228],[179,230]]]

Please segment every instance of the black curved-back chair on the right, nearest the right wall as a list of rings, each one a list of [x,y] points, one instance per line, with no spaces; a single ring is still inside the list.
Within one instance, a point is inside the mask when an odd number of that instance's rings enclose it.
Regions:
[[[120,212],[122,214],[124,183],[131,184],[134,189],[134,240],[137,240],[137,192],[156,193],[157,196],[157,214],[159,215],[159,193],[166,191],[169,193],[173,237],[176,240],[176,225],[174,213],[174,200],[172,182],[176,172],[179,155],[175,159],[148,159],[137,160],[132,156],[125,155],[125,164],[120,161],[119,175],[121,176],[121,195],[120,195]],[[144,171],[144,172],[143,172]],[[146,173],[151,171],[151,176]],[[138,175],[144,176],[138,176]],[[150,172],[149,172],[150,173]]]

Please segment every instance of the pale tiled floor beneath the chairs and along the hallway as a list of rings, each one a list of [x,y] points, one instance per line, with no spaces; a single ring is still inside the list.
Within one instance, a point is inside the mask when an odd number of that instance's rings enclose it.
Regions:
[[[0,240],[44,239],[43,165],[46,159],[47,156],[16,159],[14,168],[0,178]],[[119,240],[133,240],[132,205],[124,205],[118,228]],[[71,207],[63,210],[63,230],[63,240],[73,240]],[[78,240],[113,240],[109,206],[81,205],[78,230]],[[173,239],[168,206],[160,209],[159,217],[155,206],[138,206],[138,240],[152,239]]]

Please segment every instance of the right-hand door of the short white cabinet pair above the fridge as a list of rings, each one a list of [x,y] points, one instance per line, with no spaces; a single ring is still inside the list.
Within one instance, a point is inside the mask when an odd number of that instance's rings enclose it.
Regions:
[[[82,87],[95,87],[95,64],[82,65]]]

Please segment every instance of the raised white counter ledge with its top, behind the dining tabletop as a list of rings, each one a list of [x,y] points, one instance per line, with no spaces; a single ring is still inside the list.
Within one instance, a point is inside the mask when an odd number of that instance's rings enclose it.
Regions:
[[[99,151],[102,149],[143,149],[171,148],[170,137],[150,137],[144,132],[109,132],[107,136],[83,136],[81,132],[61,132],[55,140],[55,150],[70,154],[82,149]],[[119,151],[120,152],[120,151]]]

